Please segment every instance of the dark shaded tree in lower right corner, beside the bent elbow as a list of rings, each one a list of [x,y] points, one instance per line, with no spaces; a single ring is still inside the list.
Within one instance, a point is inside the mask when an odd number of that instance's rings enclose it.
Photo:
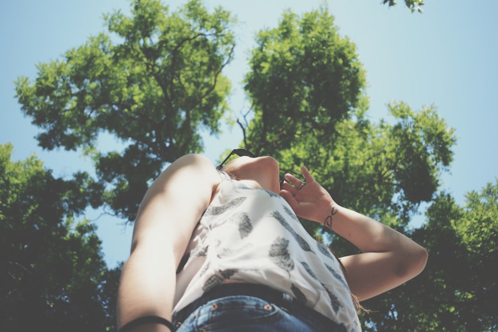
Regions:
[[[365,331],[496,331],[498,180],[463,207],[440,193],[411,236],[429,251],[425,270],[365,305]],[[480,240],[477,240],[480,238]]]

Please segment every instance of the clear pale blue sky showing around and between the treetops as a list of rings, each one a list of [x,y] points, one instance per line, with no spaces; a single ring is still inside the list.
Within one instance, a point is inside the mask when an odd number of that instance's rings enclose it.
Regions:
[[[368,72],[367,93],[372,121],[389,120],[386,104],[403,101],[418,110],[434,104],[441,117],[456,129],[457,145],[443,186],[463,204],[465,193],[480,190],[498,176],[498,1],[426,0],[424,13],[410,13],[399,0],[388,8],[380,0],[330,0],[335,24],[358,48]],[[171,8],[184,0],[163,1]],[[234,91],[231,107],[236,114],[247,107],[241,81],[256,31],[275,27],[282,11],[315,9],[320,0],[206,0],[208,7],[222,5],[236,14],[239,41],[236,59],[225,72]],[[42,151],[33,138],[38,129],[24,118],[12,82],[19,76],[36,77],[35,65],[60,59],[82,45],[89,36],[105,31],[103,13],[129,12],[127,0],[23,0],[0,2],[0,143],[14,144],[14,160],[36,153],[55,176],[78,170],[92,171],[80,152]],[[234,127],[219,138],[205,140],[206,155],[215,162],[222,151],[242,140]],[[101,148],[113,148],[113,139]],[[340,195],[340,193],[338,193]],[[423,212],[423,209],[422,209]],[[97,219],[99,212],[87,217]],[[113,267],[125,260],[131,227],[109,217],[98,219],[105,259]]]

